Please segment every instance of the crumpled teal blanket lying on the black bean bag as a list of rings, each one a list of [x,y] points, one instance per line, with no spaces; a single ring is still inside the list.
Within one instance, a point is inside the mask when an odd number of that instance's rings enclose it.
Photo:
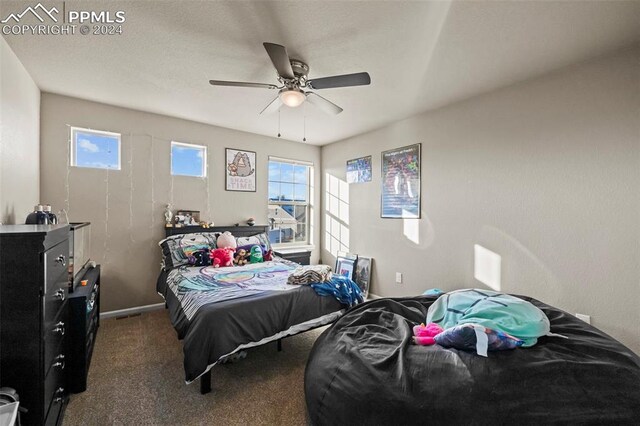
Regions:
[[[538,337],[549,333],[549,319],[533,304],[491,290],[466,289],[446,293],[427,311],[427,324],[445,330],[459,324],[480,324],[500,330],[533,346]]]

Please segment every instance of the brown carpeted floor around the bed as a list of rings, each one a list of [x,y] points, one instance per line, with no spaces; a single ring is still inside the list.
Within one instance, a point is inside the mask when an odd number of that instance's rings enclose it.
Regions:
[[[104,320],[88,388],[72,395],[64,425],[305,425],[303,377],[323,329],[248,351],[213,368],[213,390],[186,385],[182,343],[167,311]]]

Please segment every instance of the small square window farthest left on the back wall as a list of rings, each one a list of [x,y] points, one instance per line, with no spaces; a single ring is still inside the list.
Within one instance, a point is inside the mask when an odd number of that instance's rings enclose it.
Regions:
[[[72,127],[71,165],[120,170],[120,134]]]

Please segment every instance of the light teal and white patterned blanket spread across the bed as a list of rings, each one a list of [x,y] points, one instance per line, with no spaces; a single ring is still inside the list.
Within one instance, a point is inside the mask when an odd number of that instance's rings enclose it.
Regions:
[[[229,268],[181,266],[169,272],[167,285],[191,320],[200,307],[209,303],[266,291],[294,289],[296,286],[287,285],[287,278],[296,265],[285,262],[270,261]]]

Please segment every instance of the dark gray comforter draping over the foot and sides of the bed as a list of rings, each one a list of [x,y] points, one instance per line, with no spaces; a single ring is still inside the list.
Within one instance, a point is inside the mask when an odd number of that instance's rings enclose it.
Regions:
[[[237,350],[328,324],[344,309],[337,300],[318,296],[309,286],[299,286],[203,304],[187,316],[167,285],[167,275],[160,273],[157,291],[165,298],[178,338],[184,340],[187,383]]]

